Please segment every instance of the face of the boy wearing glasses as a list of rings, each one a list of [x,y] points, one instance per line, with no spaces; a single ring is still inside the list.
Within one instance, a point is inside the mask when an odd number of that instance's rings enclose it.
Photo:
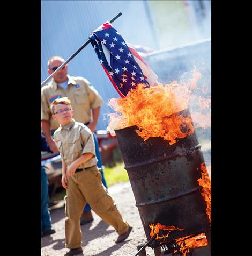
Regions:
[[[69,105],[57,104],[54,106],[53,119],[58,121],[61,125],[66,125],[71,122],[73,117],[73,110]]]

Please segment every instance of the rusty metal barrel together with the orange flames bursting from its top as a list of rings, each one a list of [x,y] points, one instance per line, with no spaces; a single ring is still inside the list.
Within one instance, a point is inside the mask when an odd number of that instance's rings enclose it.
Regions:
[[[207,245],[211,180],[187,90],[176,83],[140,84],[110,105],[121,112],[112,115],[110,128],[121,126],[115,133],[147,239],[155,236],[154,246],[174,240],[183,255]]]

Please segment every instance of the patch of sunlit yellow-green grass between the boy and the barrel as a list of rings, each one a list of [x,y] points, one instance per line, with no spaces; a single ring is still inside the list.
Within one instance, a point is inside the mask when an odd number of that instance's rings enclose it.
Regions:
[[[108,187],[116,184],[117,182],[129,181],[127,170],[124,169],[124,163],[116,163],[114,167],[105,167],[103,172]]]

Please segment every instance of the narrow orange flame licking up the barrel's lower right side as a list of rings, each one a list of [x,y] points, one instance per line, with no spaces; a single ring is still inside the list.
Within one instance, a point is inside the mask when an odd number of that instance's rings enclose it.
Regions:
[[[206,213],[207,216],[209,218],[209,221],[211,223],[211,179],[207,173],[207,168],[205,166],[205,163],[201,163],[201,167],[197,168],[197,169],[201,169],[201,174],[202,177],[200,179],[198,179],[198,183],[200,186],[202,186],[202,196],[206,202],[207,208],[206,208]],[[210,166],[210,170],[211,170],[211,166]]]

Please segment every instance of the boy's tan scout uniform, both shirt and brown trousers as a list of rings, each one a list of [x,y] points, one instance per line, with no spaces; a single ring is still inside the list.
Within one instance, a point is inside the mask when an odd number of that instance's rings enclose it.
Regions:
[[[65,221],[66,247],[81,247],[80,217],[87,202],[119,235],[127,232],[129,224],[123,220],[114,200],[101,182],[91,130],[72,119],[72,122],[60,126],[54,132],[54,140],[67,166],[84,153],[94,154],[90,160],[79,165],[75,174],[68,179],[65,207],[65,215],[68,217]]]

